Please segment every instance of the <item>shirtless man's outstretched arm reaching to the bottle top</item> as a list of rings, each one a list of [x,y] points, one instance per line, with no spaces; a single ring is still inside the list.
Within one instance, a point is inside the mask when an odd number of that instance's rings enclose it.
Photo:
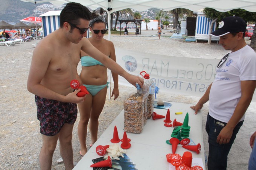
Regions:
[[[125,78],[129,83],[131,83],[134,87],[136,87],[136,83],[143,87],[144,80],[135,75],[131,75],[126,72],[120,65],[118,65],[114,60],[110,59],[105,54],[101,53],[97,48],[95,48],[87,39],[82,39],[82,47],[81,50],[87,53],[89,56],[103,63],[111,71],[119,74],[123,78]]]

